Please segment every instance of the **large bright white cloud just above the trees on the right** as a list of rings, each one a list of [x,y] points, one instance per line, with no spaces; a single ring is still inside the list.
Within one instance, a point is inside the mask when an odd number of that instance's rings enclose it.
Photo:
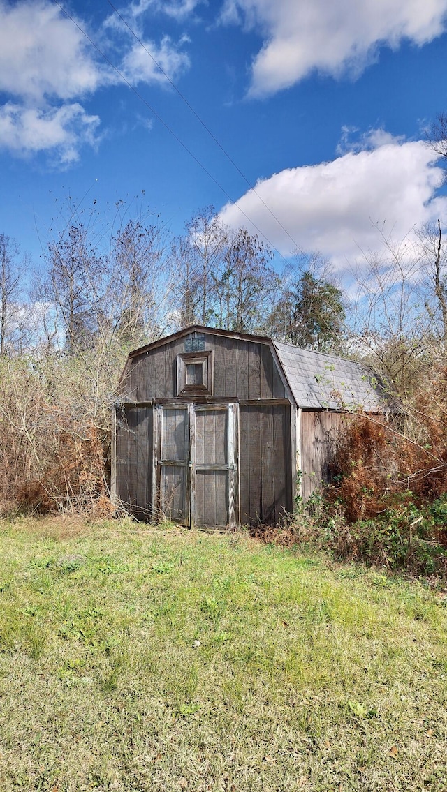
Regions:
[[[390,140],[383,130],[365,137],[369,150],[259,181],[256,193],[249,190],[223,208],[223,222],[252,233],[258,227],[286,256],[294,248],[292,240],[301,250],[319,250],[339,270],[361,261],[362,250],[379,251],[379,230],[411,242],[415,226],[445,216],[447,198],[435,195],[443,175],[434,164],[437,155],[422,141]]]

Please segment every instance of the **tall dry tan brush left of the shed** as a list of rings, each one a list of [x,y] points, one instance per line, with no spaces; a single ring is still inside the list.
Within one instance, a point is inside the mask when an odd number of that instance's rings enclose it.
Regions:
[[[111,383],[90,360],[3,360],[0,512],[107,516]]]

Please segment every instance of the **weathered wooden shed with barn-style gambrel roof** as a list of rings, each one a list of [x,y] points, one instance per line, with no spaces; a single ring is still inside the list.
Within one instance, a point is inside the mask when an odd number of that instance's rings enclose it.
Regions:
[[[352,406],[380,411],[371,372],[270,338],[192,326],[128,356],[113,421],[112,494],[142,520],[278,524],[327,479]]]

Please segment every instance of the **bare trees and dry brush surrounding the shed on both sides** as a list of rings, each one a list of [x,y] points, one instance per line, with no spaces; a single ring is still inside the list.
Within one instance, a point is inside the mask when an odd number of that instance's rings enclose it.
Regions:
[[[81,213],[82,214],[82,213]],[[333,482],[264,539],[418,573],[445,569],[447,251],[441,223],[357,272],[347,299],[318,255],[282,276],[271,251],[208,208],[166,242],[151,215],[67,213],[28,297],[17,246],[0,234],[0,514],[108,516],[110,416],[130,349],[189,323],[345,352],[389,383],[397,409],[356,413]],[[346,322],[343,323],[344,318]],[[335,332],[334,332],[335,328]],[[258,531],[259,532],[259,531]],[[441,548],[441,549],[440,549]]]

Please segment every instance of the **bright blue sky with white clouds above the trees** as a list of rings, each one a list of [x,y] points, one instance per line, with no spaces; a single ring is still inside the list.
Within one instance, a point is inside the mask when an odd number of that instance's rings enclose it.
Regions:
[[[445,223],[446,63],[447,0],[0,0],[0,233],[211,204],[342,274]]]

